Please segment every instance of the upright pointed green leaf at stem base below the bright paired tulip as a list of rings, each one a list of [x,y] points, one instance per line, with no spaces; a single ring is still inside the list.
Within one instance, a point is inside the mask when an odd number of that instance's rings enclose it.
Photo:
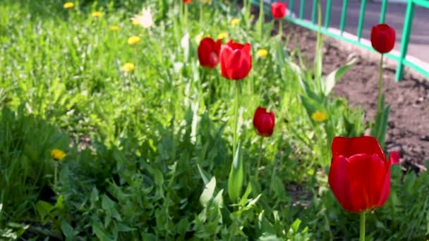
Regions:
[[[241,188],[243,187],[243,161],[241,160],[240,149],[241,143],[238,142],[228,178],[228,194],[232,202],[236,202],[240,197]]]

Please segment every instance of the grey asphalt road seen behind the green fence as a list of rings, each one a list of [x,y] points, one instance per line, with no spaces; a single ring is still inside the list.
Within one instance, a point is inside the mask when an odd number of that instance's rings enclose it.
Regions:
[[[310,20],[313,1],[295,0],[294,13],[298,16],[301,1],[306,1],[306,11],[304,18]],[[289,4],[289,1],[285,1]],[[342,13],[342,0],[332,0],[330,27],[339,28]],[[322,15],[325,15],[326,0],[322,0]],[[363,24],[362,37],[370,39],[370,32],[373,25],[379,23],[381,4],[377,1],[367,1],[365,9],[365,22]],[[349,0],[347,8],[347,18],[345,31],[356,35],[359,13],[361,11],[360,0]],[[397,41],[394,49],[400,50],[402,40],[402,29],[404,27],[406,4],[389,3],[387,6],[385,23],[394,27],[397,31]],[[325,23],[323,20],[322,23]],[[408,54],[419,58],[421,61],[429,63],[429,9],[416,7],[411,29],[411,39]]]

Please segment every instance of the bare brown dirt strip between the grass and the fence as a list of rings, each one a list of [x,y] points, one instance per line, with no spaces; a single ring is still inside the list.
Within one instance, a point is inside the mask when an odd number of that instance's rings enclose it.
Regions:
[[[286,24],[283,31],[291,35],[288,47],[298,47],[312,63],[315,33],[292,24]],[[379,56],[375,58],[368,54],[369,51],[365,53],[330,37],[325,37],[323,52],[324,74],[346,63],[351,56],[358,58],[356,64],[335,85],[334,93],[346,97],[354,106],[362,106],[365,109],[365,120],[373,121],[377,108]],[[423,164],[429,161],[429,82],[415,73],[406,73],[403,81],[395,82],[394,75],[394,66],[387,64],[383,78],[385,99],[391,106],[387,152],[399,152],[404,168],[423,171]]]

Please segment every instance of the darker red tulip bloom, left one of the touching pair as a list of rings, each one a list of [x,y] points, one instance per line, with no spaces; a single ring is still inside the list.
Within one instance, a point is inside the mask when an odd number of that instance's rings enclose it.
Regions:
[[[216,42],[210,37],[205,37],[198,45],[198,60],[204,68],[216,68],[219,63],[220,48],[222,47],[222,39]]]

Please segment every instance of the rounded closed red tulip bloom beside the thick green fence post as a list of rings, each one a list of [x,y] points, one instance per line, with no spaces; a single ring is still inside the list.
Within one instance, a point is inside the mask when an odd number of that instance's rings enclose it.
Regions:
[[[394,28],[387,24],[375,25],[371,31],[371,44],[380,54],[385,54],[393,49],[395,37]]]

